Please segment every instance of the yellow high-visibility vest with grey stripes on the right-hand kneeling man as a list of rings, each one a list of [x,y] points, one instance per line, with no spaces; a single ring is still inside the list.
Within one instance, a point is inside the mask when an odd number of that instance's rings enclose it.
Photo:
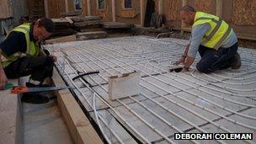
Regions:
[[[205,33],[200,43],[205,47],[218,50],[223,42],[232,34],[232,28],[224,20],[209,13],[195,13],[192,29],[200,24],[210,24],[211,27],[211,29]]]

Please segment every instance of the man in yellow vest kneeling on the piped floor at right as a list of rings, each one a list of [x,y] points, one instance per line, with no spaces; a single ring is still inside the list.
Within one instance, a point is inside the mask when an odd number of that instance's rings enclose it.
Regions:
[[[196,64],[199,72],[210,73],[227,67],[241,67],[237,53],[237,35],[224,20],[209,13],[196,12],[189,5],[181,8],[180,17],[185,24],[192,26],[189,45],[186,46],[184,55],[174,63],[184,63],[183,72],[189,71],[197,51],[201,56]]]

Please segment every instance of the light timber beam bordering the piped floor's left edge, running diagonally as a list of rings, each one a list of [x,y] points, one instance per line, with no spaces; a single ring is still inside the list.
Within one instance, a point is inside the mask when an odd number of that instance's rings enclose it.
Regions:
[[[54,69],[52,79],[57,87],[65,84],[56,69]],[[58,91],[57,102],[74,143],[103,143],[69,90]]]

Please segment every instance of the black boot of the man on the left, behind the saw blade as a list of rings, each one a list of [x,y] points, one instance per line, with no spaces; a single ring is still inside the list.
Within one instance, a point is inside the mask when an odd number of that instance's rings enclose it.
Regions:
[[[35,85],[33,83],[26,83],[28,88],[40,88],[40,87],[49,87],[48,85]],[[30,92],[24,93],[21,101],[24,103],[31,103],[31,104],[45,104],[49,102],[49,98],[41,95],[39,92]]]

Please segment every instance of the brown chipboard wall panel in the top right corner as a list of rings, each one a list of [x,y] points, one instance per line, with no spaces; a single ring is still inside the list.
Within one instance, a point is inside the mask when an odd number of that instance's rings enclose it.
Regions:
[[[233,24],[256,24],[256,0],[233,0]]]

